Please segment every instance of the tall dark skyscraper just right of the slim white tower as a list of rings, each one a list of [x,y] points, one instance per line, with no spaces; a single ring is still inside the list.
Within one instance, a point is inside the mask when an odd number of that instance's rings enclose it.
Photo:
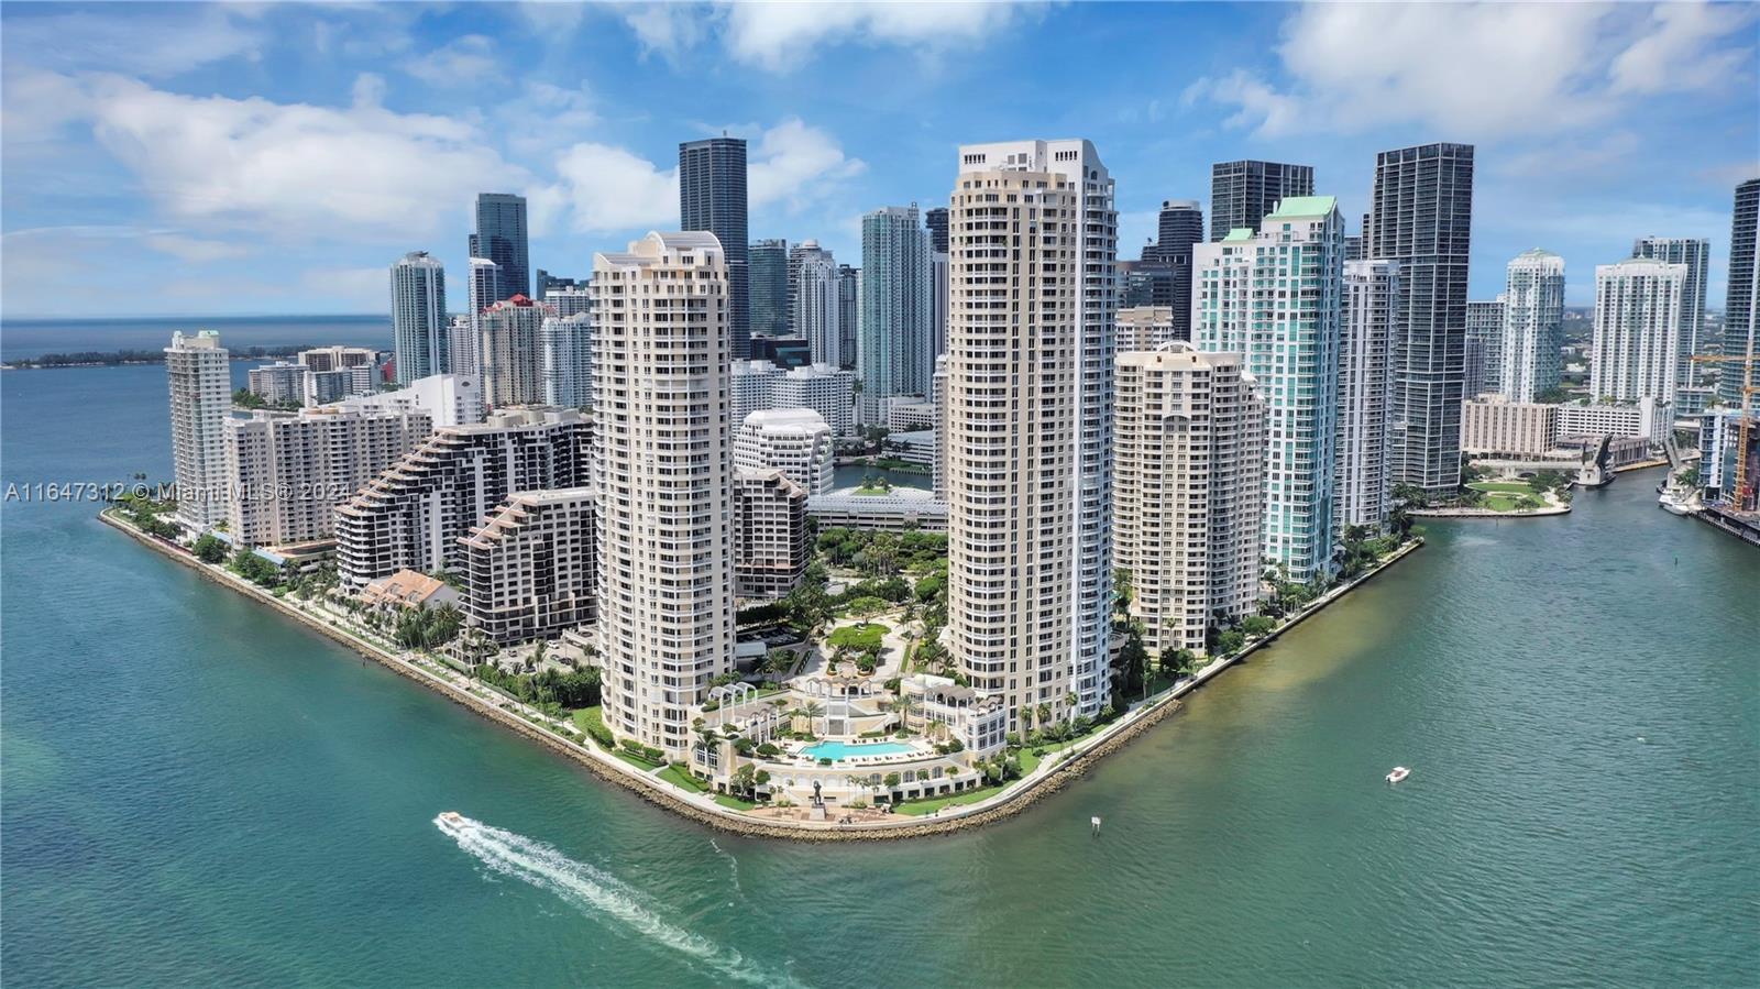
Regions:
[[[1461,484],[1466,262],[1473,146],[1422,144],[1375,158],[1364,257],[1399,262],[1404,336],[1394,348],[1394,484]]]

